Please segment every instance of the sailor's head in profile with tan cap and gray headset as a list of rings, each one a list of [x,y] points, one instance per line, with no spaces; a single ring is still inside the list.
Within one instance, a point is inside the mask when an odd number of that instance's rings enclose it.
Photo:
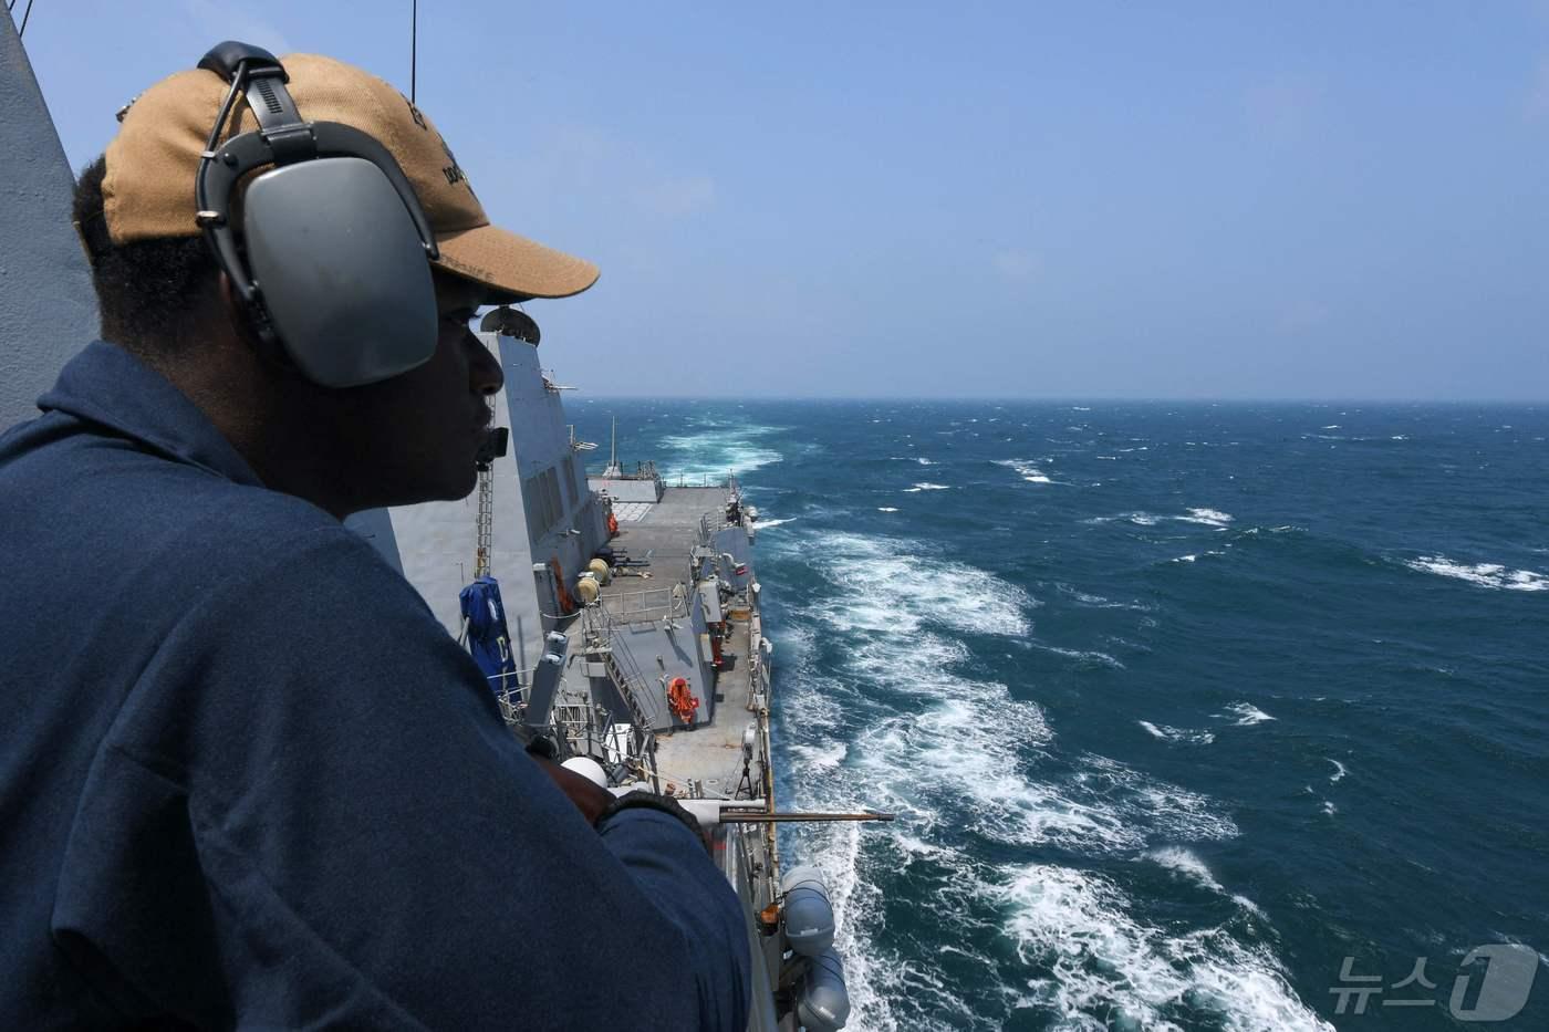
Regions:
[[[502,377],[469,319],[596,268],[489,225],[434,122],[328,57],[223,43],[121,122],[74,200],[102,336],[271,487],[341,514],[472,490]]]

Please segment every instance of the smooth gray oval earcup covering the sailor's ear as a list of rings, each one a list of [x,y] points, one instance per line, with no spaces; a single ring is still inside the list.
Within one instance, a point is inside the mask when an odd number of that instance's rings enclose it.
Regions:
[[[242,223],[270,325],[308,380],[358,387],[435,353],[424,245],[375,164],[318,158],[263,172],[246,187]]]

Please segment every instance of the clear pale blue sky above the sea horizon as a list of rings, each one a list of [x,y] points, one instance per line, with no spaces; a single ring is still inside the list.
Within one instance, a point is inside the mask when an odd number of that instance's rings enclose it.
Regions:
[[[407,0],[344,8],[25,42],[79,167],[228,36],[407,91]],[[593,394],[1549,398],[1549,3],[421,0],[418,101],[603,267],[530,307]]]

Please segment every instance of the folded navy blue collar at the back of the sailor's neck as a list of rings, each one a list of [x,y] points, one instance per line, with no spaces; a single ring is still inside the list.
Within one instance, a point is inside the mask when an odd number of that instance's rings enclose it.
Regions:
[[[37,400],[37,408],[98,423],[237,483],[263,487],[252,466],[186,394],[116,344],[88,344]]]

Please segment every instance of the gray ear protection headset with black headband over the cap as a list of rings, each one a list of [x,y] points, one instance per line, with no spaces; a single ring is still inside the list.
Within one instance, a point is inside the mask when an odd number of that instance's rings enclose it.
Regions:
[[[429,259],[438,253],[393,157],[352,126],[304,121],[266,50],[228,40],[198,67],[231,90],[200,158],[195,218],[263,346],[325,387],[429,361],[438,319]],[[257,129],[217,150],[239,96]],[[237,184],[263,166],[243,192],[239,234]]]

